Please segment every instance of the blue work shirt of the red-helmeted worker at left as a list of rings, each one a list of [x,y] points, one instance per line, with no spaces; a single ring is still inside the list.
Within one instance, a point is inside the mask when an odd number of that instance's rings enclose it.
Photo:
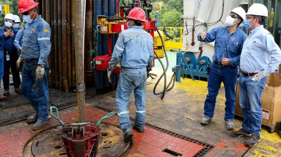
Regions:
[[[38,59],[38,64],[48,62],[51,51],[50,25],[39,15],[32,23],[27,24],[24,33],[20,57],[24,60]]]

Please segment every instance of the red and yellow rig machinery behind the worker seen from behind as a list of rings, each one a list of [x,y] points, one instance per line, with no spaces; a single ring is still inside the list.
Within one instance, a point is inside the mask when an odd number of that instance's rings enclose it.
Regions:
[[[156,20],[151,20],[150,13],[152,10],[155,10],[155,6],[158,8],[157,3],[151,3],[149,0],[134,0],[132,4],[125,4],[122,1],[123,6],[119,6],[120,0],[116,4],[116,14],[113,17],[107,17],[105,15],[99,15],[98,18],[98,26],[100,27],[100,32],[102,34],[108,35],[108,55],[98,56],[93,59],[95,62],[96,70],[98,71],[106,71],[108,68],[108,62],[112,56],[112,41],[111,35],[112,34],[119,34],[123,30],[127,30],[127,20],[126,16],[129,14],[131,9],[134,7],[140,7],[145,10],[146,12],[146,19],[148,22],[143,24],[144,30],[146,30],[154,39],[154,31],[157,30],[156,28]],[[120,8],[120,9],[119,9]],[[120,73],[120,69],[116,67],[114,69],[115,73]]]

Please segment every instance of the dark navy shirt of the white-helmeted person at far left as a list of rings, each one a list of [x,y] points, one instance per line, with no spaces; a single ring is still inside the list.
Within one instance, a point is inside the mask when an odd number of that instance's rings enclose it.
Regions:
[[[16,37],[16,34],[18,32],[18,30],[12,28],[12,31],[14,33],[13,36],[5,38],[4,33],[7,32],[5,27],[0,28],[0,38],[4,39],[2,40],[2,47],[4,48],[4,51],[16,51],[16,47],[14,46],[14,40]]]

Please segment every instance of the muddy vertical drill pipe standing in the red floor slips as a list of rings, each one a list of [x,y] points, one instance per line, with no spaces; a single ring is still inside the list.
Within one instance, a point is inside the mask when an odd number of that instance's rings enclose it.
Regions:
[[[85,31],[85,0],[74,0],[75,58],[77,77],[77,100],[79,122],[86,122],[85,84],[84,84],[84,31]]]

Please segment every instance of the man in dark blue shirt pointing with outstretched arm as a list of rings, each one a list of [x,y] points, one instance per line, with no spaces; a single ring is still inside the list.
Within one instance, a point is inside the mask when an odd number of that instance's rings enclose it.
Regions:
[[[208,94],[204,104],[204,118],[200,123],[207,125],[214,116],[216,98],[223,82],[225,88],[225,116],[227,129],[233,129],[235,124],[235,87],[237,82],[240,54],[247,35],[239,29],[239,24],[246,17],[243,8],[231,11],[225,20],[226,27],[217,27],[209,32],[198,34],[198,40],[203,42],[215,41],[215,54],[208,77]]]

